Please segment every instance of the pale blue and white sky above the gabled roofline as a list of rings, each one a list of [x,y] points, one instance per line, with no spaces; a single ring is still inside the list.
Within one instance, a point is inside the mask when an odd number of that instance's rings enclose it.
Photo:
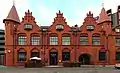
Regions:
[[[60,10],[69,26],[81,26],[89,11],[94,17],[99,16],[104,3],[104,8],[114,13],[120,0],[14,0],[14,3],[20,20],[29,9],[39,26],[50,26]],[[12,5],[13,0],[0,0],[0,29],[5,29],[3,19]]]

